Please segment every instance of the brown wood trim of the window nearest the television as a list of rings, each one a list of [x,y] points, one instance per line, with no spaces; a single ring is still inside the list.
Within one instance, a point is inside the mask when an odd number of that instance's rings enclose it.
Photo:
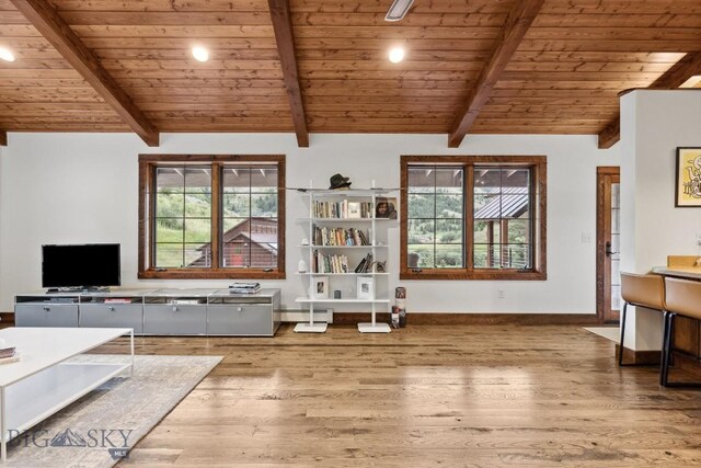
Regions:
[[[221,171],[235,162],[277,163],[277,269],[221,267]],[[156,197],[149,196],[159,164],[211,164],[211,267],[208,269],[156,269],[152,266],[153,229],[151,214]],[[214,170],[216,169],[216,170]],[[285,279],[285,155],[139,155],[139,279]]]

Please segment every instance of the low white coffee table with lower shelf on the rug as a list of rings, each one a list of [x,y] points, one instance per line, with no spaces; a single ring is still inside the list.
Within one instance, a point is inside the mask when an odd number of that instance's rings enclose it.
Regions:
[[[131,336],[129,364],[65,363],[122,335]],[[9,328],[0,330],[20,361],[0,365],[0,443],[8,442],[101,386],[120,372],[134,373],[134,330],[103,328]]]

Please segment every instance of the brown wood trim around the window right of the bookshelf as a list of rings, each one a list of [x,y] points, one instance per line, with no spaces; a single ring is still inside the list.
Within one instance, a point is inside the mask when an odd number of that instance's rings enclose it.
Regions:
[[[410,165],[462,165],[464,167],[464,267],[422,269],[421,272],[407,266],[407,218],[409,218],[409,167]],[[474,167],[494,164],[498,167],[519,165],[532,168],[531,196],[533,209],[533,266],[531,270],[474,269]],[[548,161],[545,156],[410,156],[400,157],[400,279],[487,279],[487,281],[544,281],[547,272],[547,214],[548,214]],[[470,214],[470,216],[467,216]]]

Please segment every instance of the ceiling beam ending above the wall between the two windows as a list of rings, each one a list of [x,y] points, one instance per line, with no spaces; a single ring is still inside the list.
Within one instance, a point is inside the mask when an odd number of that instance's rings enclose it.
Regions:
[[[277,42],[285,88],[287,89],[290,112],[292,114],[292,125],[297,134],[297,145],[299,145],[300,148],[307,148],[309,147],[309,130],[307,129],[304,104],[302,103],[301,87],[299,85],[299,72],[297,68],[297,57],[295,55],[295,34],[292,33],[289,1],[267,0],[267,4],[271,9],[275,41]]]

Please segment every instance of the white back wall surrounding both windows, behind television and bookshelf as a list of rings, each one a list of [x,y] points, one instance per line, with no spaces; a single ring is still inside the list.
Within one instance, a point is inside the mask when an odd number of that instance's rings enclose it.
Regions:
[[[325,187],[340,172],[353,187],[399,185],[400,155],[547,155],[548,281],[399,282],[399,230],[390,229],[389,286],[407,287],[410,311],[595,313],[596,167],[618,165],[619,151],[598,150],[595,136],[469,136],[448,149],[445,135],[312,135],[300,149],[289,134],[168,134],[147,148],[124,134],[13,134],[0,159],[0,310],[14,294],[41,286],[43,243],[119,242],[123,285],[226,286],[229,282],[137,281],[139,152],[286,153],[287,185]],[[286,308],[303,294],[294,272],[307,237],[306,215],[287,197]],[[583,242],[583,233],[590,242]],[[505,298],[497,298],[503,289]],[[340,310],[340,309],[336,309]]]

